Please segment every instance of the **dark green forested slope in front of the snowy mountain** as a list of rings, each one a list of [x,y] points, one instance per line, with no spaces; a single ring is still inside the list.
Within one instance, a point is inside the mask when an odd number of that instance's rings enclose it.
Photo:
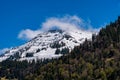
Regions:
[[[57,53],[56,53],[57,54]],[[58,59],[0,63],[8,80],[120,80],[120,17]]]

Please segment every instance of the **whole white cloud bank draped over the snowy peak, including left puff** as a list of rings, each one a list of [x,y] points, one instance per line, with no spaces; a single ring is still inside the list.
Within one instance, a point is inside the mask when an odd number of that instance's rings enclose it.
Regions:
[[[45,22],[41,24],[41,28],[38,30],[30,30],[30,29],[22,30],[19,33],[18,38],[30,40],[35,36],[37,36],[42,31],[48,31],[52,28],[62,29],[64,31],[73,31],[73,30],[81,30],[81,29],[87,29],[89,31],[96,30],[92,28],[90,21],[85,22],[76,15],[73,16],[66,15],[63,17],[48,18]]]

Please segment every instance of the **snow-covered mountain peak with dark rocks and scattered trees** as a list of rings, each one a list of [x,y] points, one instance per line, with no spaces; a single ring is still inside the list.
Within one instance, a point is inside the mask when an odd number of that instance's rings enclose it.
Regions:
[[[37,60],[51,59],[69,53],[74,46],[91,39],[92,33],[82,30],[63,31],[48,30],[38,34],[24,45],[7,50],[0,57],[3,60]]]

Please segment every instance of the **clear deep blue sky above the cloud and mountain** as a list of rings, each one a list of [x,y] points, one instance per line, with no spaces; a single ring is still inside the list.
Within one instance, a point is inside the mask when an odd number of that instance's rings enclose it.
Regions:
[[[46,19],[76,15],[99,28],[120,15],[120,0],[0,0],[0,49],[26,42],[21,30],[39,29]]]

